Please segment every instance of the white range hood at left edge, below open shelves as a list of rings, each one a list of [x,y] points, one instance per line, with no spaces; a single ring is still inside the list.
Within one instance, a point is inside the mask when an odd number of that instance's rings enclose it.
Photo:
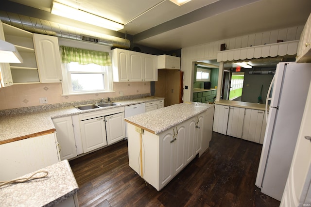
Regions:
[[[23,59],[15,46],[0,40],[0,63],[22,63]]]

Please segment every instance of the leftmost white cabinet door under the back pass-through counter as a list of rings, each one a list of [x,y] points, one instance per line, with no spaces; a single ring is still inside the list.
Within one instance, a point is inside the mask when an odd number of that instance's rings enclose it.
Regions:
[[[214,113],[213,131],[227,134],[229,106],[216,105]]]

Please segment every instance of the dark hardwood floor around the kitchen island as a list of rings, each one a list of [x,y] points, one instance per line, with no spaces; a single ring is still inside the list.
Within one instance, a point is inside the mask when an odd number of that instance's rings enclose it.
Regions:
[[[213,132],[201,158],[159,192],[129,167],[126,140],[69,163],[80,207],[278,207],[255,186],[261,146]]]

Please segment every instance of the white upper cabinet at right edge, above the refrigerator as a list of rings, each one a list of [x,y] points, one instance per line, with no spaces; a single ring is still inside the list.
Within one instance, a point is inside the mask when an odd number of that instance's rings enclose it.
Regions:
[[[296,62],[311,63],[311,14],[301,32]]]

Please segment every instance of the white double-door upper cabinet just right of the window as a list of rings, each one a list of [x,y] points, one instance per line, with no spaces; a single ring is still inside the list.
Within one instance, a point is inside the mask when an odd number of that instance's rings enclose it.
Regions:
[[[154,55],[119,48],[111,54],[114,82],[157,81]]]

